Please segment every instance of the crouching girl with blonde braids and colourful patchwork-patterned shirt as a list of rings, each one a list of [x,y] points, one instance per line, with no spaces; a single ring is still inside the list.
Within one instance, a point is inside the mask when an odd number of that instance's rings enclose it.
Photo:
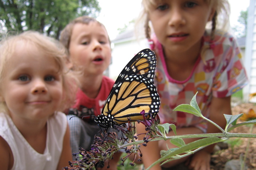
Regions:
[[[226,31],[228,0],[142,0],[142,6],[140,21],[144,22],[140,23],[144,23],[150,48],[157,56],[155,85],[161,100],[161,124],[175,124],[178,135],[220,132],[202,118],[173,109],[190,104],[198,92],[196,101],[202,114],[224,128],[223,114],[231,114],[231,94],[248,82],[240,49]],[[137,133],[145,133],[143,124],[137,125]],[[174,132],[170,130],[168,136],[174,136]],[[139,135],[138,140],[143,137]],[[195,140],[198,138],[184,142]],[[176,148],[169,140],[147,145],[140,147],[145,168],[160,158],[160,150]],[[170,169],[182,162],[189,169],[210,170],[212,150],[211,145],[150,170]]]

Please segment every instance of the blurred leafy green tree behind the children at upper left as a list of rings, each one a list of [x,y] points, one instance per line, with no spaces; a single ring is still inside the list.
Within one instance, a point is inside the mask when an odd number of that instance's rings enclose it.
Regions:
[[[58,38],[70,20],[99,12],[97,0],[0,0],[0,31],[36,30]]]

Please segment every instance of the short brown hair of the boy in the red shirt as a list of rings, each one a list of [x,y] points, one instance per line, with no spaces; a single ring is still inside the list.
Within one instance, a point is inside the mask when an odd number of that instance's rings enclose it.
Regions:
[[[105,28],[105,26],[101,22],[97,21],[95,18],[92,18],[92,17],[89,17],[89,16],[80,16],[80,17],[72,20],[61,31],[61,33],[60,33],[60,42],[68,49],[68,51],[69,51],[70,38],[71,38],[71,35],[72,35],[74,25],[78,24],[78,23],[88,25],[90,22],[96,22],[96,23],[100,24],[100,26],[103,26]],[[108,37],[108,41],[110,43],[109,37]]]

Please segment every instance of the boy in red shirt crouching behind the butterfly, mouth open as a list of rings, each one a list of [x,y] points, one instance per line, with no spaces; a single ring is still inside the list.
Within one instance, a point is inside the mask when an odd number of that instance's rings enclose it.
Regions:
[[[105,100],[114,85],[114,80],[103,75],[110,64],[110,40],[103,24],[94,18],[82,16],[62,30],[60,42],[68,49],[72,69],[79,72],[77,78],[80,87],[76,94],[76,104],[67,115],[72,153],[78,153],[79,147],[91,150],[94,135],[99,136],[100,127],[94,122],[93,116],[83,119],[70,117],[101,114]],[[120,154],[114,154],[114,159],[110,160],[111,169],[117,168]]]

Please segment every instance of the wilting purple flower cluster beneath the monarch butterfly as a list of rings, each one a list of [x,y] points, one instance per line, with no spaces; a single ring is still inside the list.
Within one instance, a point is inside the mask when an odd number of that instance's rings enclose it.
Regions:
[[[141,114],[143,115],[144,120],[139,120],[139,123],[145,125],[148,132],[144,138],[144,146],[146,143],[149,142],[152,138],[154,138],[154,134],[156,134],[156,126],[159,124],[159,117],[158,115],[153,118],[151,114],[145,114],[145,111],[142,110]],[[130,144],[132,147],[130,149],[127,148],[129,143],[135,142],[137,139],[135,126],[132,125],[132,122],[129,121],[127,126],[124,124],[123,126],[115,126],[116,130],[120,130],[122,132],[122,136],[118,137],[116,132],[101,132],[101,137],[95,136],[94,137],[94,144],[91,146],[90,151],[86,151],[83,148],[79,148],[80,152],[73,154],[76,158],[75,161],[70,161],[69,166],[63,168],[63,170],[80,170],[83,169],[95,169],[95,168],[103,168],[108,164],[106,161],[107,159],[112,159],[112,156],[118,150],[123,149],[127,156],[124,156],[120,160],[122,161],[121,165],[124,166],[124,161],[130,156],[134,154],[134,160],[130,163],[131,166],[134,166],[134,161],[138,155],[138,160],[140,161],[140,157],[142,153],[140,152],[140,145],[138,144]],[[138,134],[143,135],[143,134]],[[144,134],[145,135],[145,134]],[[126,144],[125,144],[126,143]],[[121,147],[125,146],[125,147]],[[109,164],[107,168],[111,168]]]

